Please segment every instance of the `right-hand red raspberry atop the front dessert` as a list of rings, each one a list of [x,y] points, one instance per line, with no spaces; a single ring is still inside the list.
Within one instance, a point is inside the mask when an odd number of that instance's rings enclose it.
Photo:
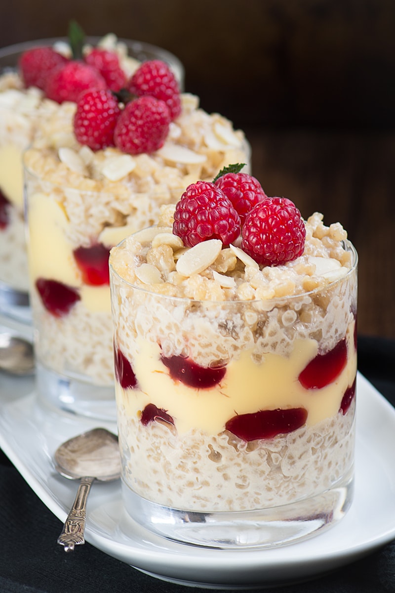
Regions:
[[[277,266],[301,256],[306,228],[291,200],[266,197],[246,216],[242,237],[243,251],[257,263]]]

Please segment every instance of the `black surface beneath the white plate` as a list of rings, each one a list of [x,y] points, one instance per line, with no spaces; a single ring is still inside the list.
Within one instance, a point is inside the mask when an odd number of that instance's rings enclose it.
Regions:
[[[362,374],[395,405],[395,340],[359,337],[358,365]],[[74,553],[65,554],[60,546],[54,544],[61,528],[60,521],[0,451],[0,593],[207,591],[189,589],[144,575],[88,543]],[[314,581],[275,588],[262,586],[261,591],[393,593],[395,541]]]

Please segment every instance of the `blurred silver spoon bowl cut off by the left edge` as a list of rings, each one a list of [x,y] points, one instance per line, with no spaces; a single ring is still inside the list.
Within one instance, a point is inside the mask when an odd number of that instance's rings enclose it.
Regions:
[[[12,375],[31,375],[34,371],[31,342],[10,333],[0,333],[0,371]]]

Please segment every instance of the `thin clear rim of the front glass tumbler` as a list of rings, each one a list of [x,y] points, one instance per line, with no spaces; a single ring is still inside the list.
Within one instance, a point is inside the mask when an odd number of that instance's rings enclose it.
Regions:
[[[147,228],[152,228],[152,227],[147,227]],[[145,229],[140,229],[140,231],[134,232],[133,234],[129,235],[129,237],[125,237],[122,241],[120,241],[120,243],[118,243],[116,246],[111,248],[111,251],[113,251],[113,249],[120,248],[128,238],[134,237],[135,235],[138,235],[139,232],[144,231],[144,230]],[[357,249],[354,247],[354,245],[351,243],[351,241],[349,241],[349,239],[343,240],[342,243],[344,245],[345,250],[351,251],[352,256],[353,256],[352,266],[344,276],[342,276],[341,278],[338,278],[336,280],[332,280],[332,282],[328,282],[325,286],[319,286],[317,288],[311,289],[310,291],[303,291],[298,294],[285,295],[284,297],[272,297],[272,298],[267,298],[267,299],[232,299],[232,300],[218,301],[215,299],[211,300],[211,299],[193,299],[193,298],[189,298],[189,297],[174,297],[172,295],[166,295],[166,294],[162,294],[160,292],[149,291],[148,289],[143,288],[143,286],[137,286],[136,284],[129,282],[129,280],[126,280],[125,278],[120,276],[120,274],[118,274],[118,272],[114,269],[113,264],[111,263],[111,258],[112,258],[111,251],[110,251],[110,257],[108,260],[108,265],[110,267],[110,286],[111,286],[111,275],[114,275],[115,277],[120,279],[121,282],[124,283],[124,285],[127,285],[130,288],[135,289],[136,291],[146,293],[147,295],[152,295],[152,297],[156,297],[156,298],[169,299],[171,301],[179,301],[179,302],[185,302],[185,303],[200,303],[200,304],[210,304],[210,305],[215,303],[217,305],[226,305],[226,306],[229,306],[230,304],[240,305],[242,303],[245,305],[250,305],[250,306],[256,305],[259,303],[271,303],[271,304],[273,304],[273,307],[271,307],[271,308],[274,308],[277,304],[281,305],[286,302],[294,302],[294,301],[297,301],[298,299],[301,299],[303,297],[310,297],[312,295],[320,294],[320,292],[327,291],[328,289],[332,289],[334,286],[338,285],[339,283],[343,283],[346,279],[350,278],[353,273],[357,272],[357,268],[358,268]]]

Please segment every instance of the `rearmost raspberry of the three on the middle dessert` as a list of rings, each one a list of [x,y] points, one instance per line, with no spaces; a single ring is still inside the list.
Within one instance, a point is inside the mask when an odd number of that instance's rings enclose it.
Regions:
[[[143,62],[131,77],[127,89],[137,97],[150,95],[165,101],[172,121],[181,113],[178,82],[169,66],[161,60]]]

